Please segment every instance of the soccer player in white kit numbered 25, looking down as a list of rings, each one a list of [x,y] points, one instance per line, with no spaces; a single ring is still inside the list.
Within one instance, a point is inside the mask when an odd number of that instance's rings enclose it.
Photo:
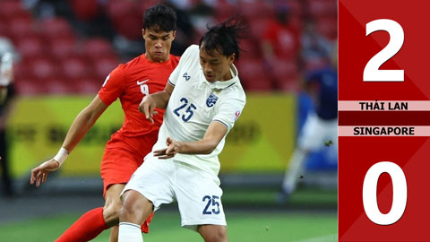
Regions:
[[[218,155],[245,107],[233,63],[246,30],[237,18],[209,28],[199,46],[185,50],[166,89],[142,99],[139,108],[150,120],[154,108],[166,112],[158,142],[122,193],[119,242],[143,241],[143,221],[174,200],[182,227],[199,232],[206,242],[228,241]]]

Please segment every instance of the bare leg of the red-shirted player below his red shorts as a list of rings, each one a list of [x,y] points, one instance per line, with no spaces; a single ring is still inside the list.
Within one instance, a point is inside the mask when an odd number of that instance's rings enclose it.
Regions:
[[[118,241],[118,222],[119,222],[119,211],[121,209],[121,200],[119,195],[124,189],[125,184],[114,184],[107,187],[105,194],[105,206],[103,207],[103,218],[107,226],[111,227],[110,230],[110,242]]]

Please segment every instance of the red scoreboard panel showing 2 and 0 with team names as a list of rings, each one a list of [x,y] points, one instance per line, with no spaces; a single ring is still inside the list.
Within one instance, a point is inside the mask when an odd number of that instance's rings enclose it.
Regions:
[[[430,241],[430,1],[338,4],[339,241]]]

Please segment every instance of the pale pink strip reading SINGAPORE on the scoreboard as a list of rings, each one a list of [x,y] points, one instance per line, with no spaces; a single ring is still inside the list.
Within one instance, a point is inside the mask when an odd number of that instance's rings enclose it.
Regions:
[[[373,126],[373,125],[341,125],[339,136],[430,136],[430,126]]]

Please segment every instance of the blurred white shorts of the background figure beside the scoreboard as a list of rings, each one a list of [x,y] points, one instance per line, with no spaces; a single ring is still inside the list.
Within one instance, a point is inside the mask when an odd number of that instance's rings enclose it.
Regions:
[[[324,120],[315,113],[307,116],[298,145],[303,150],[317,151],[328,141],[338,146],[338,119]]]

